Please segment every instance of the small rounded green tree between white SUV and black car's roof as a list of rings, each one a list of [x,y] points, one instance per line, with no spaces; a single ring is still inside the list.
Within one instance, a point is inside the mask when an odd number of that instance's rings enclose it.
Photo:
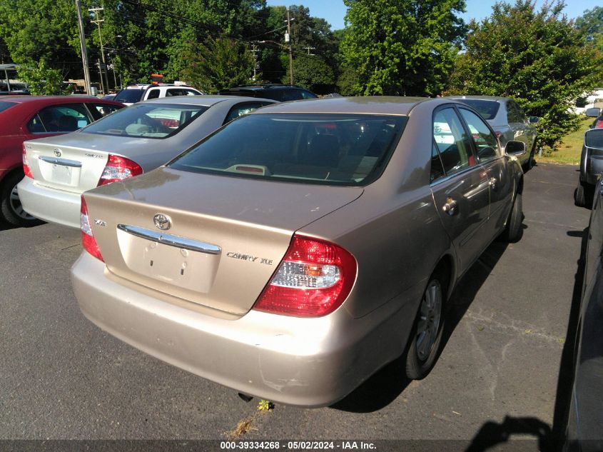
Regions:
[[[233,39],[210,38],[206,44],[192,44],[186,61],[183,77],[207,93],[247,84],[253,74],[253,57]]]

